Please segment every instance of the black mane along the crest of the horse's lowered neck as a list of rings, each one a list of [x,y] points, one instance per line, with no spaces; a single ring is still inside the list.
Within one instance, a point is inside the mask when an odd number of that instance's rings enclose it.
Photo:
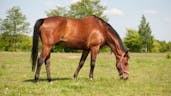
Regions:
[[[114,35],[118,38],[119,44],[121,45],[122,50],[123,50],[124,52],[126,52],[126,49],[125,49],[125,47],[124,47],[124,45],[123,45],[123,43],[122,43],[122,40],[121,40],[119,34],[115,31],[115,29],[114,29],[109,23],[107,23],[106,21],[104,21],[102,18],[100,18],[100,17],[98,17],[98,16],[95,16],[95,15],[93,15],[93,16],[96,17],[96,18],[98,18],[100,21],[102,21],[102,23],[104,23],[105,25],[107,25],[107,26],[109,27],[109,30],[110,30],[112,33],[114,33]]]

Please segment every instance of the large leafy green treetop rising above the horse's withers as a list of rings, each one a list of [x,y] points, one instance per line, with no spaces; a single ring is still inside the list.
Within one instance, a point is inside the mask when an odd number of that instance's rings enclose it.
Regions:
[[[103,12],[106,8],[100,4],[100,0],[81,0],[71,4],[69,17],[82,18],[85,16],[96,15],[107,20]]]

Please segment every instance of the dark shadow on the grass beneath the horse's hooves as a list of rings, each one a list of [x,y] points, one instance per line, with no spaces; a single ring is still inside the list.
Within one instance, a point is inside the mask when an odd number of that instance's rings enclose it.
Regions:
[[[54,82],[54,81],[66,81],[66,80],[72,80],[72,78],[52,78],[52,82]],[[45,81],[48,82],[48,80],[45,79],[45,78],[40,78],[39,79],[39,82],[45,82]],[[35,83],[36,81],[34,79],[26,79],[23,82],[33,82],[33,83]]]

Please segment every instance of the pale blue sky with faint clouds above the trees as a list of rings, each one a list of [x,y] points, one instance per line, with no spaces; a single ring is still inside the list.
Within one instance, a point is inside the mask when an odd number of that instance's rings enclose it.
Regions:
[[[56,6],[69,6],[79,0],[1,0],[0,18],[5,18],[7,10],[19,6],[30,22],[31,28],[39,18],[46,16],[46,11]],[[150,23],[152,35],[158,40],[171,41],[171,0],[101,0],[106,7],[104,14],[109,23],[124,38],[127,29],[136,29],[142,15]]]

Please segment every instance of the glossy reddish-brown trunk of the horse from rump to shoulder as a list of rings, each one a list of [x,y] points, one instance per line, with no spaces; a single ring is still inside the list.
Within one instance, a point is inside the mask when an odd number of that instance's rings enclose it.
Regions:
[[[82,49],[104,43],[103,30],[94,16],[80,19],[48,17],[42,29],[51,44],[62,42],[66,47]]]

